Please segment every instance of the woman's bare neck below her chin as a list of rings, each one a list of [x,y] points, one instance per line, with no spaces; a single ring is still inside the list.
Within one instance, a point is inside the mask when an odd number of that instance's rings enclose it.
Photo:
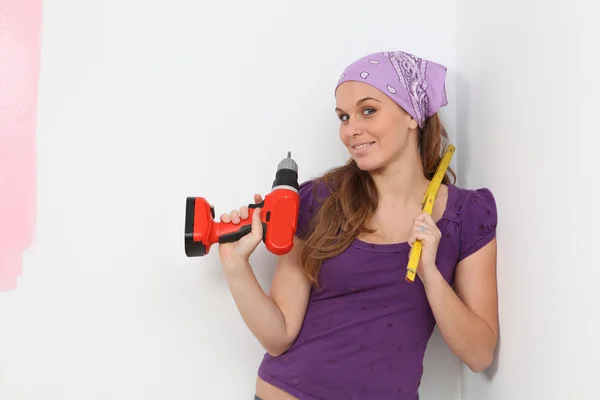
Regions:
[[[384,169],[374,171],[371,176],[379,192],[381,204],[420,203],[429,186],[418,154],[402,156]]]

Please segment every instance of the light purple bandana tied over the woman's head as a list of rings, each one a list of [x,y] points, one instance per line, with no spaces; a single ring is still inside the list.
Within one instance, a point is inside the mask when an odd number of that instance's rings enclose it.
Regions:
[[[443,65],[403,51],[384,51],[347,66],[337,86],[347,81],[367,83],[388,95],[423,128],[427,118],[448,104],[445,80]]]

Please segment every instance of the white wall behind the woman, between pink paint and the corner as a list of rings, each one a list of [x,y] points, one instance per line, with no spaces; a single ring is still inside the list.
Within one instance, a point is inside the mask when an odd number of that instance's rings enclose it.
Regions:
[[[367,52],[446,64],[454,132],[454,6],[429,2],[423,26],[391,0],[45,2],[36,245],[0,296],[0,398],[251,398],[264,351],[217,248],[185,257],[186,196],[227,212],[288,150],[301,179],[344,162],[333,89]],[[253,265],[268,288],[274,257]],[[423,398],[459,398],[431,346]]]

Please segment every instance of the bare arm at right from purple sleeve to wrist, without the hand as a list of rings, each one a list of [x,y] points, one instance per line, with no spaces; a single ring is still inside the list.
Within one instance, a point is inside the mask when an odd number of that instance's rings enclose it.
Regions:
[[[490,366],[498,341],[496,239],[460,261],[454,290],[437,268],[421,276],[440,333],[473,372]]]

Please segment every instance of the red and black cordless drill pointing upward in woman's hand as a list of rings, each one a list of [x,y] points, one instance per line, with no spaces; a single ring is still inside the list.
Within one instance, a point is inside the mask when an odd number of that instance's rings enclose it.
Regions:
[[[252,215],[262,208],[263,242],[273,254],[286,254],[292,249],[300,197],[298,165],[288,152],[277,167],[271,192],[258,204],[249,204],[248,219],[235,225],[215,222],[215,209],[203,197],[188,197],[185,208],[185,253],[201,257],[214,243],[235,242],[252,230]]]

